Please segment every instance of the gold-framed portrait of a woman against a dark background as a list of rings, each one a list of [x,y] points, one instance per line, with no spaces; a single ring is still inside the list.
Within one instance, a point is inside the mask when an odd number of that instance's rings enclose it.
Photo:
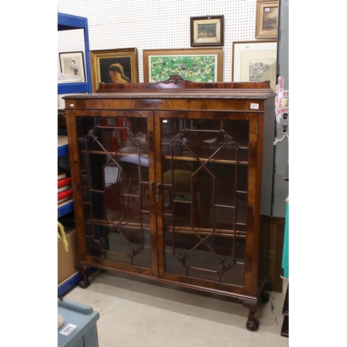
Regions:
[[[92,90],[99,83],[138,83],[137,49],[110,49],[90,51]]]

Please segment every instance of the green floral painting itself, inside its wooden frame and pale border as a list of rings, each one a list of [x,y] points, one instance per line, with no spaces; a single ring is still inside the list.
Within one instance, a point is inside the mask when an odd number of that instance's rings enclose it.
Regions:
[[[150,82],[167,81],[174,74],[194,82],[216,82],[217,55],[151,56]]]

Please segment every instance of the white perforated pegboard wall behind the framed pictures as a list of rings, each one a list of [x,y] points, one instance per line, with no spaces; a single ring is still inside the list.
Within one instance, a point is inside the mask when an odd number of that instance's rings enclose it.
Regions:
[[[190,48],[190,17],[224,15],[223,81],[231,81],[232,42],[255,40],[256,0],[58,0],[58,11],[88,19],[90,50]],[[83,51],[83,31],[58,32],[58,53]],[[58,60],[58,71],[60,71]],[[64,103],[62,107],[64,108]]]

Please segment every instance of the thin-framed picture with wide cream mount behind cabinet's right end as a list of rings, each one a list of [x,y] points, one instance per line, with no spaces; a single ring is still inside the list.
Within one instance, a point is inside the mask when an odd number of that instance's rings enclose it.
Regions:
[[[232,42],[232,81],[270,81],[276,90],[276,41]]]

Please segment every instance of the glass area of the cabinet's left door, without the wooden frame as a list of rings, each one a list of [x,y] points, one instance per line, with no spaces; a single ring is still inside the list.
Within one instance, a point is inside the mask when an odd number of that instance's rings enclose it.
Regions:
[[[89,255],[151,268],[149,158],[145,118],[89,117],[78,123]],[[83,130],[82,130],[83,129]]]

